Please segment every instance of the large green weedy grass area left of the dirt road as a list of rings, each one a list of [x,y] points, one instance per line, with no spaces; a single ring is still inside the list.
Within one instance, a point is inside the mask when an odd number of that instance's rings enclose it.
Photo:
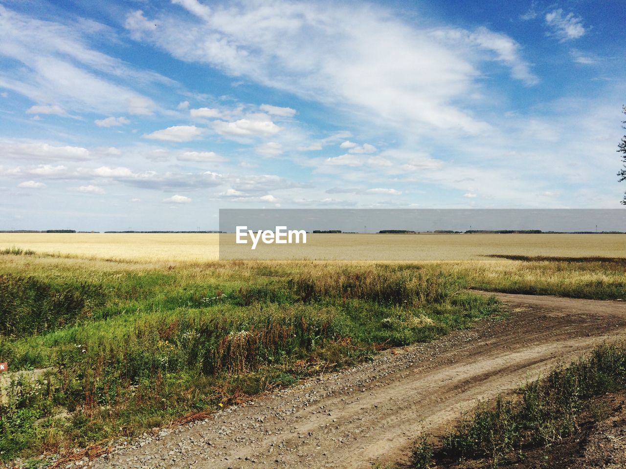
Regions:
[[[136,435],[497,310],[435,265],[15,254],[0,256],[4,461]]]

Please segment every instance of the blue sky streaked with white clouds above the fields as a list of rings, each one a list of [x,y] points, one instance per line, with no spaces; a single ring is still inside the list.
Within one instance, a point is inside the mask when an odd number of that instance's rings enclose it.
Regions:
[[[620,208],[622,0],[0,0],[0,229]]]

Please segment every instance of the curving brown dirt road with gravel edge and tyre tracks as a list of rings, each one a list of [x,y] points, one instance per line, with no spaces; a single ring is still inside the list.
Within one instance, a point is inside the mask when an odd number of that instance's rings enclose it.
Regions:
[[[398,461],[477,399],[513,390],[558,361],[626,334],[626,304],[496,294],[506,321],[481,321],[319,376],[211,420],[118,447],[96,467],[367,468]]]

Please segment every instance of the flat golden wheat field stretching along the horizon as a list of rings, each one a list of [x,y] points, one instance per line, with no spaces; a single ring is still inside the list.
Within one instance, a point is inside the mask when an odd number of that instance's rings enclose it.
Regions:
[[[210,233],[0,233],[0,250],[16,247],[79,258],[202,262],[218,259],[219,236]],[[273,258],[275,254],[275,258],[283,260],[454,261],[488,260],[491,255],[626,257],[626,235],[318,234],[308,235],[307,251],[302,250],[302,245],[267,245],[263,249],[254,254],[265,258]],[[245,256],[252,253],[248,248],[239,252]]]

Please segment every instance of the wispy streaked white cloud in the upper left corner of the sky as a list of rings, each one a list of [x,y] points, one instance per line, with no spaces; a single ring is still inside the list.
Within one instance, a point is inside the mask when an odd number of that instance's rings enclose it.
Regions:
[[[9,59],[0,70],[0,87],[66,111],[152,113],[155,103],[133,88],[174,82],[91,48],[88,36],[103,29],[95,21],[88,28],[84,20],[42,21],[0,5],[0,55]]]

